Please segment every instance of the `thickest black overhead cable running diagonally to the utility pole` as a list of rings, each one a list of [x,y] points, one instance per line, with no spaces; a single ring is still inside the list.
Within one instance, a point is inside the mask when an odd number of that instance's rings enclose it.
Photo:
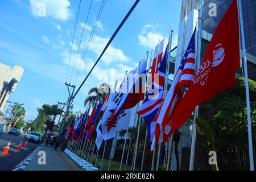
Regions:
[[[80,89],[82,88],[82,85],[84,85],[85,81],[88,79],[88,77],[90,76],[90,73],[92,73],[93,69],[96,67],[96,65],[98,64],[98,61],[100,61],[101,57],[104,55],[104,53],[106,52],[106,49],[108,49],[108,47],[110,46],[110,44],[112,43],[112,41],[114,40],[115,36],[118,34],[119,30],[122,28],[123,24],[125,24],[126,20],[129,18],[129,16],[131,15],[131,13],[133,13],[133,10],[135,9],[135,7],[138,5],[140,0],[136,0],[134,5],[131,7],[130,11],[126,14],[125,18],[122,20],[122,22],[119,24],[117,30],[115,30],[114,34],[112,35],[112,37],[110,38],[108,44],[106,44],[106,47],[104,48],[104,50],[102,51],[100,57],[98,57],[96,63],[93,65],[92,69],[90,69],[90,72],[88,73],[88,75],[85,77],[84,81],[82,81],[82,84],[79,86],[79,89],[77,89],[76,93],[73,95],[72,100],[76,97],[76,95],[79,93]]]

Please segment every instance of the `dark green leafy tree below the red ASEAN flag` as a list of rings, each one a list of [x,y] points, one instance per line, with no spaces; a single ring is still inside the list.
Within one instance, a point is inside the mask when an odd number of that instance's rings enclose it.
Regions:
[[[230,169],[236,167],[232,160],[237,160],[238,169],[246,169],[248,164],[248,139],[247,139],[247,110],[245,97],[245,80],[236,78],[237,86],[234,89],[213,97],[200,106],[199,118],[199,140],[201,148],[217,151],[218,164],[221,168]],[[251,124],[253,140],[256,140],[256,82],[249,80]],[[256,148],[254,146],[254,152]],[[226,162],[225,162],[226,161]],[[229,165],[229,166],[228,166]],[[218,170],[219,165],[213,170]]]

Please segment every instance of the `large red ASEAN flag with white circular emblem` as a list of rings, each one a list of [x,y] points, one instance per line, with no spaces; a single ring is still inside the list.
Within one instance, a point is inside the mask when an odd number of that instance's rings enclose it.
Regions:
[[[240,67],[239,28],[237,1],[234,0],[213,34],[199,74],[171,115],[172,129],[179,129],[195,106],[208,101],[222,90],[236,86],[235,73]]]

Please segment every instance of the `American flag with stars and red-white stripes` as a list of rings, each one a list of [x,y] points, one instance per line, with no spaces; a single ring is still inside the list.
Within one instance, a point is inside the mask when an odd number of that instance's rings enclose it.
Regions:
[[[166,142],[172,134],[172,129],[168,125],[170,115],[174,113],[174,110],[179,105],[185,91],[185,85],[191,85],[195,78],[195,32],[196,30],[193,32],[188,48],[181,60],[174,82],[154,119],[156,129],[152,139],[151,150],[154,150],[158,143]]]

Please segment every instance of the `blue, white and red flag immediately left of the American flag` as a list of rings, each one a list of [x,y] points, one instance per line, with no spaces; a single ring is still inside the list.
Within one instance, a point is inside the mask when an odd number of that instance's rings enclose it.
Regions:
[[[139,107],[137,111],[137,113],[141,115],[141,117],[146,122],[148,139],[151,138],[151,122],[154,120],[156,114],[158,113],[163,99],[164,81],[166,77],[166,67],[168,61],[168,47],[169,46],[167,45],[163,57],[161,56],[162,60],[160,60],[158,64],[158,71],[156,72],[158,74],[158,78],[154,78],[154,82],[152,82],[141,107]]]

